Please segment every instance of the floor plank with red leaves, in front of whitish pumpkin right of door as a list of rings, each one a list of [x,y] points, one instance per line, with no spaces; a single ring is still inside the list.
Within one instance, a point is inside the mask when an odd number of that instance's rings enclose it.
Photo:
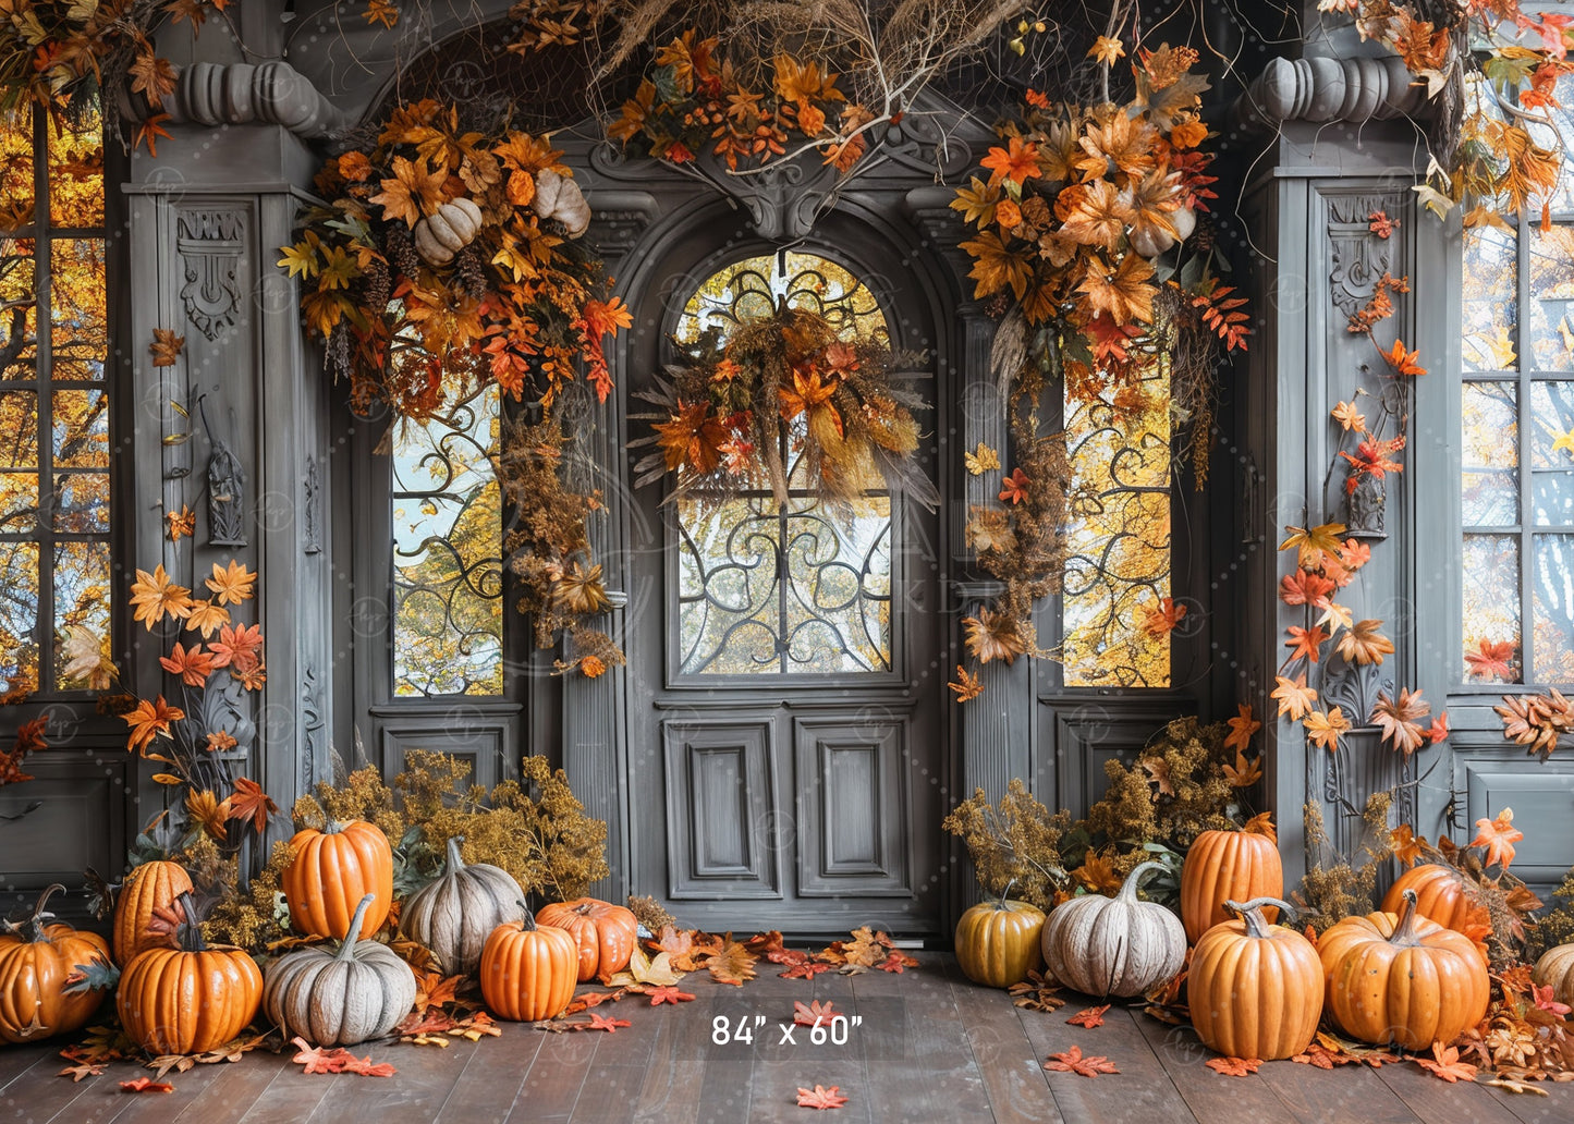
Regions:
[[[1096,1004],[1102,1006],[1102,1004]],[[1066,1119],[1072,1121],[1132,1121],[1162,1119],[1190,1121],[1192,1111],[1176,1091],[1163,1064],[1136,1028],[1132,1014],[1121,1006],[1111,1006],[1103,1015],[1103,1026],[1070,1026],[1067,1019],[1081,1008],[1073,998],[1059,1011],[1028,1011],[1012,1008],[1022,1020],[1034,1059],[1042,1067],[1051,1053],[1064,1053],[1072,1045],[1083,1055],[1102,1055],[1119,1069],[1105,1077],[1081,1077],[1080,1074],[1048,1072],[1045,1078],[1055,1104]]]

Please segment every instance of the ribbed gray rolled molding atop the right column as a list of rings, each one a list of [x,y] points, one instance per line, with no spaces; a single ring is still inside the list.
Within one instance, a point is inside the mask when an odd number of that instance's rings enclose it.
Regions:
[[[1247,126],[1284,121],[1333,123],[1421,120],[1429,115],[1426,85],[1398,57],[1270,58],[1236,101]]]

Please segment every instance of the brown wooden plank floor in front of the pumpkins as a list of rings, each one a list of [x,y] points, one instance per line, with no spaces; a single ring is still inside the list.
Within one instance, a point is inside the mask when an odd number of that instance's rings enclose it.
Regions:
[[[98,1078],[57,1077],[60,1042],[0,1047],[0,1122],[44,1124],[740,1124],[817,1119],[796,1107],[800,1086],[837,1085],[847,1105],[836,1124],[903,1121],[1350,1121],[1352,1124],[1552,1124],[1574,1119],[1574,1085],[1550,1096],[1511,1096],[1447,1085],[1413,1064],[1321,1070],[1269,1063],[1251,1077],[1221,1077],[1190,1030],[1111,1009],[1094,1030],[1069,1026],[1078,996],[1056,1012],[1018,1011],[1001,992],[968,984],[949,957],[924,954],[905,974],[822,974],[812,982],[763,974],[743,989],[693,974],[697,998],[650,1008],[626,996],[611,1011],[631,1026],[615,1034],[545,1034],[507,1025],[499,1039],[447,1050],[365,1045],[398,1067],[392,1078],[307,1077],[288,1053],[252,1053],[235,1064],[172,1075],[172,1094],[126,1094],[120,1081],[150,1070],[116,1063]],[[770,965],[760,965],[768,968]],[[863,1015],[845,1045],[779,1042],[793,1000],[831,1000]],[[1089,1001],[1091,1003],[1091,1001]],[[765,1025],[754,1045],[715,1045],[713,1020]],[[1047,1074],[1053,1052],[1080,1045],[1119,1075]]]

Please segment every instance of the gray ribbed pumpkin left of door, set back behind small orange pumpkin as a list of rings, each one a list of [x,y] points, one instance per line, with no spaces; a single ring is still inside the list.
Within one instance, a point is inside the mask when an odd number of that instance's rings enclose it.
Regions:
[[[400,932],[423,945],[450,976],[474,976],[493,929],[523,921],[519,883],[501,866],[460,858],[463,836],[449,839],[442,877],[405,902]]]

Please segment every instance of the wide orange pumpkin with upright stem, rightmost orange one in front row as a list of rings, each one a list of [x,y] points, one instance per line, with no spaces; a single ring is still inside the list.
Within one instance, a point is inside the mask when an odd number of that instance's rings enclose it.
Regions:
[[[1418,915],[1413,889],[1401,899],[1398,916],[1344,918],[1322,934],[1317,954],[1328,1015],[1339,1030],[1363,1042],[1424,1050],[1481,1022],[1492,982],[1469,937]]]

